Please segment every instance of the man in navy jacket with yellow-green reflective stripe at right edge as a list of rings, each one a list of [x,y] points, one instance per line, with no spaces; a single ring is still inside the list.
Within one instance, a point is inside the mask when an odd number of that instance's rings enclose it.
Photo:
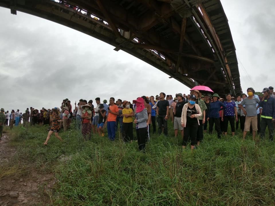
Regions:
[[[270,91],[268,88],[264,88],[262,93],[264,93],[264,98],[258,105],[263,108],[262,120],[261,120],[261,137],[262,137],[262,139],[264,138],[265,133],[266,133],[266,126],[267,126],[268,130],[269,130],[269,140],[273,141],[273,139],[274,139],[274,123],[273,122],[275,122],[275,98],[272,98],[270,96]],[[247,98],[245,98],[245,99],[247,99]]]

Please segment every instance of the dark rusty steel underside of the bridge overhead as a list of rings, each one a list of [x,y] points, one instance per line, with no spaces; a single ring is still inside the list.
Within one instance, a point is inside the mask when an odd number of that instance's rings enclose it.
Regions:
[[[242,92],[219,0],[0,0],[0,6],[76,29],[151,64],[188,87]]]

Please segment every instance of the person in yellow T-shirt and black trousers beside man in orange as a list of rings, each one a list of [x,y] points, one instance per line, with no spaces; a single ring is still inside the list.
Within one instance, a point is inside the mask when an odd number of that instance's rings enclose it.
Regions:
[[[124,109],[122,110],[123,115],[123,141],[133,142],[133,116],[134,112],[130,108],[130,102],[123,102]]]

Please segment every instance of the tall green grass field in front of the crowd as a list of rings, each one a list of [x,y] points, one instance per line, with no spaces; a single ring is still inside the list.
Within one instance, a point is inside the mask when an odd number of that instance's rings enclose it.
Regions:
[[[152,135],[144,153],[137,142],[111,142],[107,133],[84,142],[69,130],[60,133],[64,142],[52,136],[48,146],[45,126],[9,135],[18,162],[54,172],[53,205],[275,205],[274,142],[242,141],[240,131],[221,139],[205,134],[191,152],[169,127],[171,137]]]

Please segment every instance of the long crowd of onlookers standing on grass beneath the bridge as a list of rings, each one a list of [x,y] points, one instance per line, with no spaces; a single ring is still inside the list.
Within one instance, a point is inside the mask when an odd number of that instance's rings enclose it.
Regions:
[[[175,98],[161,92],[156,96],[139,97],[132,102],[121,99],[115,101],[115,98],[111,97],[109,104],[107,100],[101,103],[98,97],[95,98],[95,103],[96,106],[93,105],[93,100],[87,102],[80,99],[78,103],[74,103],[73,108],[70,100],[64,99],[60,108],[38,110],[30,107],[30,110],[27,108],[23,114],[19,113],[19,110],[17,112],[11,110],[9,114],[9,111],[5,112],[1,108],[1,136],[3,126],[8,126],[9,122],[12,129],[13,125],[21,124],[22,118],[24,127],[28,124],[50,126],[44,145],[48,144],[53,133],[62,141],[58,135],[61,128],[64,132],[68,128],[76,128],[87,141],[90,140],[92,133],[105,136],[104,129],[107,127],[109,140],[115,140],[118,131],[119,138],[125,142],[133,142],[133,124],[135,124],[139,150],[144,150],[146,142],[150,141],[151,130],[153,134],[158,132],[168,136],[168,120],[173,122],[175,137],[180,131],[182,148],[186,148],[191,142],[191,150],[203,141],[208,123],[210,134],[213,133],[215,124],[218,138],[227,135],[229,123],[233,136],[240,125],[243,139],[249,131],[253,140],[256,133],[264,138],[268,127],[269,140],[274,139],[275,93],[271,86],[264,88],[260,96],[255,94],[253,88],[248,88],[247,94],[241,94],[236,99],[231,94],[227,94],[223,99],[216,93],[203,95],[199,90],[192,90],[188,95],[178,93]]]

